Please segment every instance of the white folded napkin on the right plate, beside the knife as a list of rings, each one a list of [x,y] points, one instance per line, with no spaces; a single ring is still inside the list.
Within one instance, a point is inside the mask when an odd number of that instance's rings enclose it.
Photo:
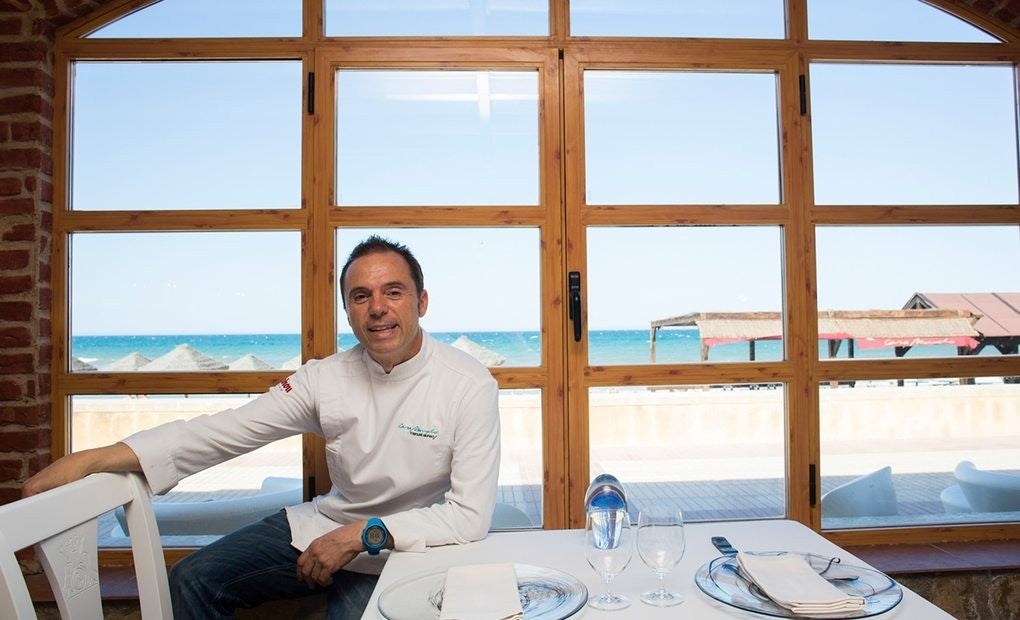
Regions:
[[[867,603],[847,595],[811,568],[799,554],[759,556],[738,553],[744,573],[775,603],[795,614],[821,615],[854,612]]]

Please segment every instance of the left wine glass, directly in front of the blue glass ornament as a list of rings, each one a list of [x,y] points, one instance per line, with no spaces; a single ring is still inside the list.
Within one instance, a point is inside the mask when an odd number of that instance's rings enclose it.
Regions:
[[[595,572],[606,581],[606,591],[593,596],[588,604],[613,611],[630,606],[630,600],[610,589],[613,577],[623,572],[633,554],[630,516],[623,509],[593,510],[584,521],[584,556]]]

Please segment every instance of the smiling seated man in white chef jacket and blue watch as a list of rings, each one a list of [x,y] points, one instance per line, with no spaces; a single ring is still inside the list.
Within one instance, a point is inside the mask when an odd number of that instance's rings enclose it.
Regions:
[[[312,360],[238,409],[176,420],[70,454],[24,495],[96,471],[142,471],[154,493],[285,436],[325,438],[333,488],[191,554],[170,571],[174,617],[327,592],[329,618],[360,618],[389,549],[484,537],[496,501],[498,389],[467,354],[425,333],[428,294],[404,246],[371,237],[340,276],[359,345]],[[381,552],[381,553],[380,553]]]

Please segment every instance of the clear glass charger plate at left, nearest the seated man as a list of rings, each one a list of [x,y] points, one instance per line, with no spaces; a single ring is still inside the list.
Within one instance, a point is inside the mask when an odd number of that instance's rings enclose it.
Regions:
[[[514,564],[517,591],[525,620],[563,620],[588,603],[588,587],[565,572],[530,564]],[[387,620],[439,618],[447,569],[404,577],[378,599],[379,614]]]

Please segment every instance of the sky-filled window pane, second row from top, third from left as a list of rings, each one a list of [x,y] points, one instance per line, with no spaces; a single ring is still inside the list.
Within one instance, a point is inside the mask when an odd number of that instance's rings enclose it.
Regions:
[[[585,200],[777,204],[777,122],[772,73],[584,71]]]

